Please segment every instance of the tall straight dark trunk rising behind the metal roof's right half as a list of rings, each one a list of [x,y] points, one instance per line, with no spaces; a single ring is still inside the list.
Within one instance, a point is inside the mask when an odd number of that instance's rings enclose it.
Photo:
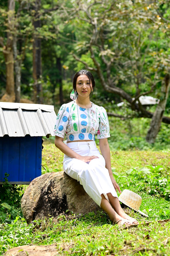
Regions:
[[[34,10],[35,10],[35,15],[34,15],[34,40],[33,40],[33,78],[34,78],[34,102],[38,104],[42,104],[43,99],[42,99],[42,84],[41,84],[41,75],[42,75],[42,70],[41,70],[41,39],[38,38],[36,29],[38,27],[41,27],[41,22],[40,22],[40,5],[41,5],[41,0],[35,0],[34,2]]]

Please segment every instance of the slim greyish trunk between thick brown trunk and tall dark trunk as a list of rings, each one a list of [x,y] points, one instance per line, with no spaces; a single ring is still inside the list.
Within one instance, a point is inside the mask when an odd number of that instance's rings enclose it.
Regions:
[[[14,56],[14,69],[15,69],[15,94],[16,99],[15,102],[20,102],[20,93],[21,93],[21,63],[22,60],[18,59],[18,51],[17,51],[17,38],[13,37],[13,56]]]

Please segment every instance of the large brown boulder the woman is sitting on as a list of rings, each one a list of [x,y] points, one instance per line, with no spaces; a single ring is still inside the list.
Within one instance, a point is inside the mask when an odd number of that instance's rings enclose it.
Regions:
[[[21,208],[27,223],[60,213],[89,213],[100,207],[87,195],[78,181],[65,172],[49,172],[35,178],[29,184]]]

